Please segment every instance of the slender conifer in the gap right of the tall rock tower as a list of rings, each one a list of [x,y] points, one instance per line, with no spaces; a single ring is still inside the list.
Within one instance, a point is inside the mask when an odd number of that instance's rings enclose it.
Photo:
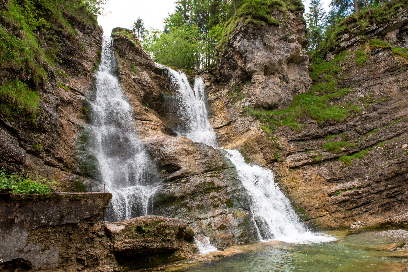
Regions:
[[[324,9],[320,0],[311,0],[309,12],[305,14],[308,31],[310,33],[310,48],[317,51],[320,42],[323,40],[323,25]]]

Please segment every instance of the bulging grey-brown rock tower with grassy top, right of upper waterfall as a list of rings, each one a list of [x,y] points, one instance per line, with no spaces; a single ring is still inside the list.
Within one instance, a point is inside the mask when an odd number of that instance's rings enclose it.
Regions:
[[[286,108],[309,86],[306,24],[302,13],[275,11],[279,27],[239,22],[220,52],[218,71],[231,84],[248,82],[246,102],[264,110]],[[246,94],[246,92],[244,92]]]

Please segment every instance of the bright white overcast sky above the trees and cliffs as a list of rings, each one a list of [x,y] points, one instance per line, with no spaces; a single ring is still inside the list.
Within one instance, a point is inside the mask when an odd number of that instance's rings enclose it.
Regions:
[[[330,0],[322,0],[328,11]],[[303,0],[308,12],[310,0]],[[140,15],[146,28],[155,27],[163,30],[163,18],[174,11],[173,0],[110,0],[105,6],[111,14],[99,17],[98,23],[103,27],[104,35],[110,36],[114,27],[131,29],[133,21]]]

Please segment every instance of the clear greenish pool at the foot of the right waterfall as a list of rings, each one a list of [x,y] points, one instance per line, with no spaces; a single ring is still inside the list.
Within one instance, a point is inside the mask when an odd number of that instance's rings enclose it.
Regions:
[[[337,240],[295,244],[261,241],[233,245],[225,251],[177,263],[165,272],[403,272],[408,271],[408,247],[395,248],[408,238],[379,235],[378,231],[351,234],[348,230],[325,232]],[[155,268],[157,270],[158,268]]]

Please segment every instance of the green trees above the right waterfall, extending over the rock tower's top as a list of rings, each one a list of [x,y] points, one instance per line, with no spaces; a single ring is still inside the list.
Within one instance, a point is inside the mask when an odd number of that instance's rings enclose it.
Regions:
[[[304,6],[300,0],[178,0],[175,11],[164,19],[164,31],[152,27],[143,29],[143,46],[153,60],[178,69],[203,69],[217,61],[229,34],[239,22],[279,26],[271,14],[282,11],[286,20],[288,11],[300,13]],[[138,18],[139,19],[139,18]],[[135,21],[135,30],[144,27]]]

